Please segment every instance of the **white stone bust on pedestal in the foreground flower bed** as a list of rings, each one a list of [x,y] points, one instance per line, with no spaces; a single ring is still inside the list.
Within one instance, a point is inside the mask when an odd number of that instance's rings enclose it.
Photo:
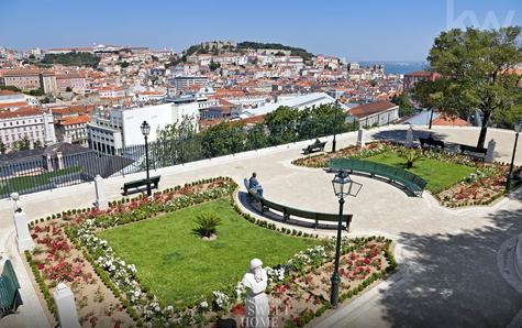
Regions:
[[[268,275],[263,269],[263,262],[259,259],[251,261],[251,270],[245,273],[242,284],[248,288],[246,294],[246,328],[267,328],[268,327],[268,297],[265,289],[268,283]]]

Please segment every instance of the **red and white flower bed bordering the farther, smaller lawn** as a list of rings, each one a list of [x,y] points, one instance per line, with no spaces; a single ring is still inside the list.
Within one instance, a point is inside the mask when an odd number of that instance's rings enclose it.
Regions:
[[[391,142],[370,142],[365,147],[348,146],[336,153],[324,153],[297,158],[295,165],[307,167],[327,167],[331,158],[354,157],[368,158],[386,152],[400,153],[404,146]],[[482,163],[471,161],[468,156],[441,151],[418,150],[421,158],[441,163],[466,165],[475,170],[456,184],[446,188],[433,189],[433,196],[446,207],[488,205],[504,193],[509,166],[500,163]],[[426,178],[426,177],[424,177]]]

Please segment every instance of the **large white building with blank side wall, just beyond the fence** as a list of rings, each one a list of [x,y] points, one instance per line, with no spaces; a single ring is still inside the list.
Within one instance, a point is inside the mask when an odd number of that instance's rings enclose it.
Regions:
[[[157,131],[167,124],[180,122],[184,117],[195,118],[195,129],[199,120],[199,102],[162,103],[134,108],[121,108],[110,112],[109,119],[95,117],[87,125],[89,147],[103,153],[144,144],[140,125],[147,121],[151,125],[148,141],[157,139]]]

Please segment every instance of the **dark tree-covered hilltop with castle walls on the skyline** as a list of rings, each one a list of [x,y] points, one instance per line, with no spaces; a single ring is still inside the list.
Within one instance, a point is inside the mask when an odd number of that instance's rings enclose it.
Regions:
[[[193,54],[218,55],[221,52],[243,52],[246,50],[258,50],[258,48],[290,51],[290,54],[292,56],[300,56],[303,58],[303,61],[310,61],[313,57],[312,53],[309,53],[307,50],[302,47],[295,47],[295,46],[279,44],[279,43],[262,43],[262,42],[252,42],[252,41],[243,41],[243,42],[237,43],[235,46],[224,46],[220,50],[210,50],[210,48],[203,47],[202,44],[195,44],[188,47],[184,52],[184,54],[186,56],[190,56]]]

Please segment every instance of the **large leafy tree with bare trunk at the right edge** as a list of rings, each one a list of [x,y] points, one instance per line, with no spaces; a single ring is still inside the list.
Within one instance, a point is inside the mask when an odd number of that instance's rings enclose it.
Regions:
[[[413,98],[451,116],[467,117],[480,109],[484,118],[477,146],[484,147],[493,116],[501,117],[521,103],[520,77],[511,74],[522,62],[520,36],[520,26],[442,32],[427,56],[431,69],[441,77],[417,83]]]

